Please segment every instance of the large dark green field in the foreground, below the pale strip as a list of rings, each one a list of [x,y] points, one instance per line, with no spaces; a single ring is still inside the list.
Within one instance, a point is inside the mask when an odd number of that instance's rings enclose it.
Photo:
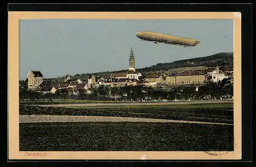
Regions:
[[[233,151],[233,126],[20,123],[19,151]]]

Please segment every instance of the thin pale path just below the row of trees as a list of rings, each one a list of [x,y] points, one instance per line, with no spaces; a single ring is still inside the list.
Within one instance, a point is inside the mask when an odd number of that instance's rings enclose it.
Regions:
[[[71,103],[71,104],[43,104],[38,106],[113,106],[113,105],[175,105],[175,104],[205,104],[205,103],[233,103],[231,100],[214,101],[182,101],[182,102],[120,102],[120,103]]]

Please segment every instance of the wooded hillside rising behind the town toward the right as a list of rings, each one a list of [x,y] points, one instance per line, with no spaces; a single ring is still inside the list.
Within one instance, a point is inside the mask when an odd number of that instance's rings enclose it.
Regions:
[[[207,57],[201,58],[193,58],[193,59],[185,59],[174,61],[172,63],[158,63],[154,66],[145,67],[136,69],[136,72],[140,73],[150,73],[152,71],[157,73],[164,72],[165,74],[180,71],[182,69],[207,69],[208,67],[215,67],[217,66],[225,66],[225,65],[233,65],[233,52],[221,52],[213,55],[209,55]],[[94,73],[95,76],[102,76],[103,78],[109,77],[111,73],[123,73],[127,72],[125,70],[119,71],[106,71],[106,72],[96,72]],[[76,74],[74,76],[70,76],[72,78],[79,78],[79,79],[86,79],[88,78],[89,73],[86,74]],[[51,78],[57,79],[62,81],[65,76],[58,77],[58,78]]]

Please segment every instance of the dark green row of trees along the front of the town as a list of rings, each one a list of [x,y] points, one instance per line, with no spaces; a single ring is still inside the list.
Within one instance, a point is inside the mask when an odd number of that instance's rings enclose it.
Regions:
[[[154,100],[154,99],[220,99],[233,95],[233,85],[223,79],[218,83],[207,82],[203,86],[180,86],[177,88],[153,88],[146,86],[109,87],[101,85],[93,88],[91,94],[69,94],[62,89],[55,94],[42,94],[28,89],[19,90],[20,99],[80,99],[80,100]],[[227,86],[228,85],[228,86]]]

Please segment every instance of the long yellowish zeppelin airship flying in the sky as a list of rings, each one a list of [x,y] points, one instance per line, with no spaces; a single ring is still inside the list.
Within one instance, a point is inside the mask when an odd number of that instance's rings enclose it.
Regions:
[[[183,38],[183,37],[177,37],[177,36],[154,33],[154,32],[138,32],[136,33],[136,36],[145,41],[179,45],[183,47],[192,47],[192,46],[199,45],[201,43],[197,40],[190,39],[190,38]]]

